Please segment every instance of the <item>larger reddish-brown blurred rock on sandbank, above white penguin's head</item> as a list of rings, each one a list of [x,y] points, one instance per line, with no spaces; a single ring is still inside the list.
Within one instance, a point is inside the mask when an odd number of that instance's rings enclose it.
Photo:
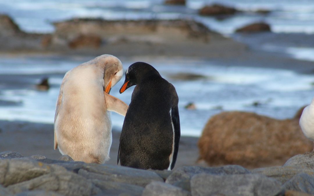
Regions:
[[[99,48],[101,45],[101,37],[97,35],[79,35],[75,39],[69,42],[69,47],[73,49],[77,48]]]

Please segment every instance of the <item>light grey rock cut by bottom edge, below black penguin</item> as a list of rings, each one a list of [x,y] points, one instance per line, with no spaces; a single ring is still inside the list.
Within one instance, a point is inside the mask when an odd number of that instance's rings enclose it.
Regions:
[[[172,186],[168,183],[152,182],[148,184],[142,196],[189,196],[188,191]]]

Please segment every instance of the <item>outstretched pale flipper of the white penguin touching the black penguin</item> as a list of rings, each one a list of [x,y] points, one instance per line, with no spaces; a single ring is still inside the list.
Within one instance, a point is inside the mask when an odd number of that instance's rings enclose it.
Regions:
[[[116,97],[111,96],[106,92],[104,92],[104,94],[108,111],[116,112],[122,116],[125,116],[125,114],[127,114],[127,109],[129,108],[129,106],[126,103]]]

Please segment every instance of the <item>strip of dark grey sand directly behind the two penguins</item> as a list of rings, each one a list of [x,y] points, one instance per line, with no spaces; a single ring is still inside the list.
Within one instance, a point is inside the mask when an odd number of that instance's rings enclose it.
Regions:
[[[113,130],[110,160],[105,164],[117,165],[119,137],[120,132]],[[197,163],[197,141],[196,137],[181,137],[175,168],[201,165]],[[58,150],[53,149],[53,124],[21,121],[0,121],[0,151],[15,151],[24,157],[42,155],[59,159],[61,156]]]

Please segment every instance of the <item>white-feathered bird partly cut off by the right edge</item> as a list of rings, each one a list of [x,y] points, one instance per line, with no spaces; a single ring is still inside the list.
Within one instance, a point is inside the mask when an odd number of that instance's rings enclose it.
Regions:
[[[306,138],[314,141],[314,98],[311,104],[303,109],[299,124]]]

